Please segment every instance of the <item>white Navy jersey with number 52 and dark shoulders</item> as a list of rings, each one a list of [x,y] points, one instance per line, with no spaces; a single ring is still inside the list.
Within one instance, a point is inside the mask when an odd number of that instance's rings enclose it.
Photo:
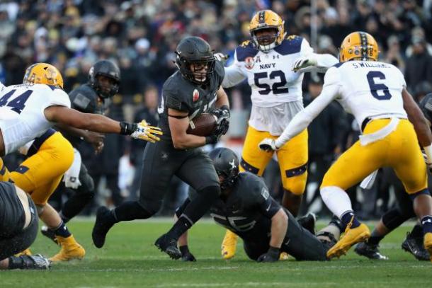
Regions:
[[[267,53],[243,42],[234,53],[234,63],[225,68],[222,86],[231,87],[247,79],[251,86],[252,110],[249,125],[259,131],[280,135],[292,117],[303,108],[302,81],[304,71],[292,71],[301,57],[314,55],[317,71],[326,71],[337,63],[329,54],[314,54],[307,40],[289,36]]]

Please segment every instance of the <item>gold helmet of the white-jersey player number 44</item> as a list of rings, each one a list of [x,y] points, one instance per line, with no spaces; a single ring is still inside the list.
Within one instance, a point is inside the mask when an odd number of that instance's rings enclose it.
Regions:
[[[35,63],[25,70],[23,83],[47,84],[63,88],[63,77],[51,64]]]

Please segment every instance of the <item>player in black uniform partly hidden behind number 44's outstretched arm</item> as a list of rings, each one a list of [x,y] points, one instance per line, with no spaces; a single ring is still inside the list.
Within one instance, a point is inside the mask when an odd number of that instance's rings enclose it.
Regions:
[[[118,69],[117,65],[109,60],[100,60],[93,64],[93,67],[89,70],[89,82],[69,93],[71,108],[82,113],[103,115],[108,109],[110,98],[118,92],[119,84],[120,69]],[[75,154],[79,154],[76,148],[83,139],[93,145],[96,153],[103,149],[104,135],[101,133],[75,129],[67,125],[57,125],[57,127],[74,146]],[[74,161],[76,161],[76,156]],[[84,163],[81,162],[80,166],[77,175],[74,175],[74,173],[64,175],[64,182],[59,184],[56,191],[61,195],[66,190],[73,190],[73,192],[67,193],[72,196],[64,203],[59,212],[64,223],[79,214],[91,201],[95,193],[93,178],[89,175]],[[47,226],[42,226],[42,234],[56,241],[54,232],[48,229]]]

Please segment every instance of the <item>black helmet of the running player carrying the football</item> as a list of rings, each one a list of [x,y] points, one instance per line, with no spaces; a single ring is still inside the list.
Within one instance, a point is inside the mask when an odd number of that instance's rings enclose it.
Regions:
[[[210,76],[215,71],[215,61],[216,59],[210,45],[202,38],[187,37],[177,45],[176,65],[181,75],[193,83],[208,83]],[[191,64],[203,64],[207,69],[203,73],[194,73],[191,71]]]

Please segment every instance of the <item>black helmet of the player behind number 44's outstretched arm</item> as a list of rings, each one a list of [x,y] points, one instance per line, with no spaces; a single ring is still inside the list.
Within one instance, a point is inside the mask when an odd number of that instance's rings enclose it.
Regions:
[[[113,79],[114,83],[111,84],[108,92],[103,91],[97,78],[99,75]],[[102,98],[113,97],[118,92],[120,85],[120,69],[110,60],[100,60],[93,64],[89,70],[89,84]]]

